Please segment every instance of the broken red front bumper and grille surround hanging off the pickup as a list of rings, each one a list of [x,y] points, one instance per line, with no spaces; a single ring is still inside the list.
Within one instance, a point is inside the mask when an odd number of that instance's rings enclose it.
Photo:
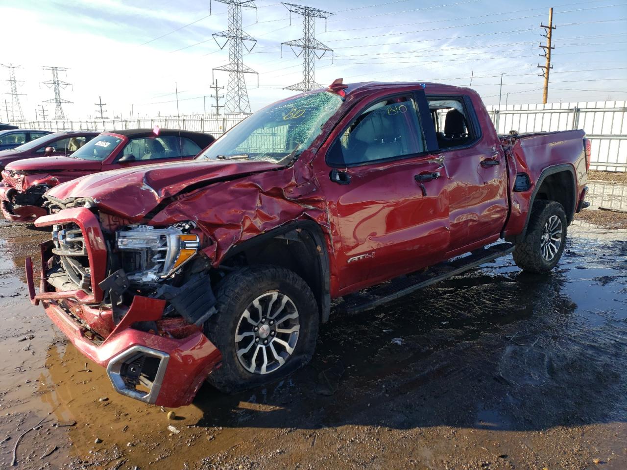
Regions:
[[[110,308],[102,308],[98,287],[105,274],[107,248],[96,216],[84,207],[41,217],[36,226],[72,222],[80,227],[89,259],[90,286],[55,291],[46,280],[51,242],[41,244],[40,292],[36,293],[33,262],[26,258],[31,302],[46,313],[83,355],[107,368],[117,392],[143,402],[179,407],[192,402],[221,353],[201,328],[181,318],[162,318],[166,301],[135,295],[115,324]],[[153,322],[149,331],[134,328]]]

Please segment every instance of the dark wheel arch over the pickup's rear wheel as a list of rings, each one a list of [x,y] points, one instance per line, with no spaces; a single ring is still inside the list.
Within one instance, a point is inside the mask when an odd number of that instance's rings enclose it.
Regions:
[[[577,206],[577,179],[572,165],[554,165],[542,171],[529,199],[525,226],[517,237],[517,241],[522,240],[527,234],[534,202],[542,199],[562,204],[566,212],[566,222],[568,225],[571,224]]]

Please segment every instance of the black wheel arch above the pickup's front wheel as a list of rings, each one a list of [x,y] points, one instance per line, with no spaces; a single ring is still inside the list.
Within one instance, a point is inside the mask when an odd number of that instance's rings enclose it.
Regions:
[[[307,220],[293,221],[255,236],[229,249],[221,265],[241,254],[248,265],[273,264],[292,269],[314,293],[320,321],[329,320],[329,251],[319,224]]]

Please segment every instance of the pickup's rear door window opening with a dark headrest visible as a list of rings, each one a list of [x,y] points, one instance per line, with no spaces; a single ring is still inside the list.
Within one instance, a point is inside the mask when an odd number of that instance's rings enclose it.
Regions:
[[[472,113],[463,98],[427,97],[440,149],[463,147],[479,137],[472,125]]]

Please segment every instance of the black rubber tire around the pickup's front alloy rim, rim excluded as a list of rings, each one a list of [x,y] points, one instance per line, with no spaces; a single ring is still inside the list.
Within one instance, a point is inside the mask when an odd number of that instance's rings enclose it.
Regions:
[[[292,301],[292,305],[297,309],[300,330],[292,354],[284,359],[285,362],[282,365],[277,366],[277,370],[266,373],[250,372],[238,358],[236,335],[240,331],[238,328],[243,328],[240,323],[245,321],[242,316],[245,310],[254,300],[268,293],[278,293],[280,296],[287,296]],[[206,336],[222,353],[221,367],[211,372],[207,379],[216,389],[233,393],[269,384],[282,379],[311,360],[318,335],[318,305],[314,293],[298,274],[289,269],[271,265],[242,268],[223,279],[218,287],[216,300],[218,312],[204,325]],[[259,309],[260,316],[263,315],[261,310],[263,309]],[[251,316],[253,315],[256,313],[251,313]],[[270,318],[270,315],[267,318]],[[278,319],[280,319],[280,314],[277,315]],[[267,321],[269,325],[270,320]],[[243,325],[248,326],[246,323]],[[275,328],[277,327],[278,322],[275,325]],[[261,332],[261,328],[258,329]],[[277,338],[280,335],[278,332],[272,334]],[[253,335],[256,341],[260,333],[253,333]],[[266,337],[266,340],[270,339]],[[277,345],[277,343],[273,344]],[[269,345],[264,347],[264,350],[268,358],[272,358],[269,347]],[[278,347],[280,345],[277,345]],[[253,344],[252,348],[255,350],[257,345]],[[263,351],[261,353],[263,354]],[[287,351],[285,353],[287,354]],[[255,362],[254,359],[253,362]]]

